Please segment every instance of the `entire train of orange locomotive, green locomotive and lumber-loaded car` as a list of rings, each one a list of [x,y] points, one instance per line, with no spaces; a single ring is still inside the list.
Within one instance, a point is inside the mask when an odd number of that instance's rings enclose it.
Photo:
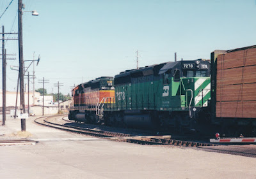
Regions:
[[[196,127],[207,134],[255,136],[255,71],[256,45],[215,50],[211,66],[197,59],[127,70],[75,87],[69,117],[157,131]],[[93,85],[99,81],[104,83]]]

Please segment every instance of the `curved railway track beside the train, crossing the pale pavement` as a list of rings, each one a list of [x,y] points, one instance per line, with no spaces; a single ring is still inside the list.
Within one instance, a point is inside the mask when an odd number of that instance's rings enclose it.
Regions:
[[[55,129],[61,129],[68,132],[76,132],[79,134],[106,138],[106,140],[126,141],[142,145],[176,145],[180,147],[193,147],[196,148],[196,150],[204,150],[208,152],[256,157],[256,145],[216,145],[196,141],[173,140],[171,139],[171,136],[141,136],[131,133],[126,134],[121,132],[104,131],[107,128],[102,130],[98,127],[95,127],[95,125],[87,125],[86,127],[86,125],[80,125],[76,122],[65,119],[66,116],[67,115],[55,115],[51,117],[40,117],[36,118],[35,122],[37,124],[54,127]],[[60,122],[61,120],[65,123],[63,124],[63,122]],[[77,126],[74,126],[74,124]]]

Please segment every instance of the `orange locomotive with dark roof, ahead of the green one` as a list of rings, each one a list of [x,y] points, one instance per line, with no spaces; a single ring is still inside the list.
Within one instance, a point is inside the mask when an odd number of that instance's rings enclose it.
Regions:
[[[104,104],[115,103],[113,82],[113,77],[102,76],[75,87],[68,117],[78,122],[102,122]]]

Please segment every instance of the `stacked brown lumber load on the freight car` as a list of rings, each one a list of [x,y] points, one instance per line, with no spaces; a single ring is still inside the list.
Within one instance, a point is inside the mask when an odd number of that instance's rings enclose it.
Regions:
[[[256,46],[218,55],[216,117],[256,118]]]

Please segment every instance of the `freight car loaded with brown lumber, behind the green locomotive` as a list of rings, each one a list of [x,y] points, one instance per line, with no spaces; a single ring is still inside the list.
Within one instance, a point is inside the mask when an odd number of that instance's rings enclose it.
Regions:
[[[256,134],[256,45],[211,53],[211,124]]]

